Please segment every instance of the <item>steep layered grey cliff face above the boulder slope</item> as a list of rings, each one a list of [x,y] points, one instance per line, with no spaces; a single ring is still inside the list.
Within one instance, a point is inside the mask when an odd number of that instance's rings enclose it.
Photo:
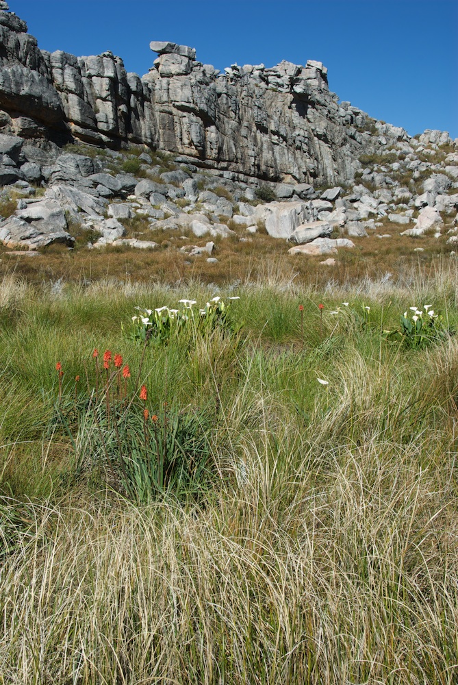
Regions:
[[[144,143],[199,166],[272,181],[339,184],[403,129],[338,103],[321,62],[233,65],[220,75],[194,49],[153,42],[147,75],[111,52],[48,53],[0,5],[0,132],[36,140]],[[375,126],[375,128],[374,128]]]

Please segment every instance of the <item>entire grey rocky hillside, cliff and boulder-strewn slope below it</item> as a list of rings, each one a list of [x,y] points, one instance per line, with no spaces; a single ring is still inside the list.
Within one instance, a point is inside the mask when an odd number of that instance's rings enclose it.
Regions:
[[[458,146],[411,138],[329,91],[327,69],[236,64],[220,74],[194,49],[152,42],[147,75],[107,52],[48,53],[0,0],[0,240],[37,249],[125,244],[154,229],[241,240],[266,230],[290,251],[333,253],[368,232],[435,232],[457,242]],[[181,248],[183,249],[183,248]],[[214,257],[208,257],[214,259]]]

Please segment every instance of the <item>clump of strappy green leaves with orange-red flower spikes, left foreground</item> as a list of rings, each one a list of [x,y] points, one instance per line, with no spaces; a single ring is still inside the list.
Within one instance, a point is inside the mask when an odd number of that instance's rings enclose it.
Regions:
[[[62,364],[55,365],[57,418],[71,438],[75,475],[105,472],[110,486],[140,503],[149,503],[169,490],[175,495],[198,493],[211,470],[209,419],[200,410],[199,414],[181,412],[151,399],[145,383],[138,389],[131,381],[129,365],[121,367],[120,355],[114,356],[110,369],[109,350],[103,356],[105,379],[99,384],[103,371],[97,357],[95,384],[91,388],[87,375],[87,389],[78,384],[79,375],[68,388],[63,387]],[[135,376],[140,377],[141,371],[140,364]]]

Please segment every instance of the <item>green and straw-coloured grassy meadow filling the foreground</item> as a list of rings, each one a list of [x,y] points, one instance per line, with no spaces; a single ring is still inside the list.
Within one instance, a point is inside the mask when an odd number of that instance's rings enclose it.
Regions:
[[[457,260],[5,261],[1,685],[458,682]],[[214,297],[225,325],[131,335]],[[412,306],[437,331],[387,339]]]

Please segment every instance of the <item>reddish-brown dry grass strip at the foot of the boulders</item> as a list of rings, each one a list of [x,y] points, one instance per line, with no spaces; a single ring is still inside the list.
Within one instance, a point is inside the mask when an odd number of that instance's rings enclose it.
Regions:
[[[434,269],[437,259],[442,255],[448,258],[450,252],[445,245],[446,236],[439,239],[431,235],[422,238],[400,236],[405,227],[390,224],[385,219],[379,232],[390,234],[391,238],[381,240],[374,234],[367,238],[352,238],[356,248],[341,249],[338,266],[331,269],[320,265],[325,257],[288,257],[285,255],[290,245],[285,241],[270,238],[264,232],[251,236],[240,227],[234,228],[236,236],[214,239],[216,264],[207,264],[205,257],[188,258],[179,252],[183,245],[203,246],[207,238],[196,238],[186,230],[151,230],[147,221],[136,220],[127,226],[129,236],[154,240],[160,245],[166,241],[164,247],[145,252],[129,247],[107,247],[96,252],[84,247],[68,251],[56,245],[42,250],[42,256],[35,258],[9,256],[10,250],[0,247],[0,277],[14,269],[17,275],[34,284],[62,277],[73,282],[118,278],[168,284],[199,279],[203,283],[224,285],[261,278],[267,259],[278,260],[285,279],[295,276],[304,285],[325,286],[330,278],[345,284],[356,283],[368,274],[377,280],[385,273],[391,273],[396,282],[415,264],[424,264],[427,272]],[[188,240],[181,240],[180,236],[187,236]],[[248,242],[240,242],[242,237],[248,238]],[[85,242],[85,236],[81,240]],[[414,251],[416,247],[423,251]]]

